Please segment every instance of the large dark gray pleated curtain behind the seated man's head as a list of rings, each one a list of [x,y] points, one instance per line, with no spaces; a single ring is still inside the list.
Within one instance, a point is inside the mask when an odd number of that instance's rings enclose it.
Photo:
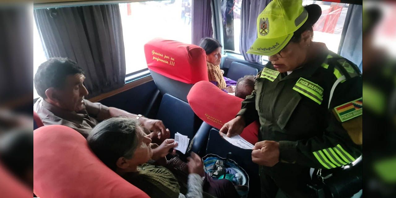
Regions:
[[[87,98],[125,84],[125,52],[118,4],[34,10],[47,58],[68,57],[85,72]]]

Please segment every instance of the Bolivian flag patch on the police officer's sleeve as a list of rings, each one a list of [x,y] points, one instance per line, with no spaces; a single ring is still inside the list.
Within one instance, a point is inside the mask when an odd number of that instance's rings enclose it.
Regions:
[[[334,108],[341,122],[350,120],[363,114],[363,98],[345,103]]]

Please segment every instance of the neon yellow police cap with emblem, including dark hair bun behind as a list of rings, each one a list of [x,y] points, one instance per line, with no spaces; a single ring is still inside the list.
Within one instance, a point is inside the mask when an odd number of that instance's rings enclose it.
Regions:
[[[313,25],[321,13],[320,6],[303,7],[302,0],[273,0],[257,17],[257,39],[246,53],[266,56],[278,53],[308,16]]]

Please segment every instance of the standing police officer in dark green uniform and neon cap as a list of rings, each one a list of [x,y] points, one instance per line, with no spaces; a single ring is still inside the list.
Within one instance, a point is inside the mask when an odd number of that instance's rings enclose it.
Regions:
[[[255,90],[220,133],[258,120],[252,151],[262,197],[313,197],[310,168],[333,169],[362,154],[362,75],[352,62],[312,42],[322,11],[301,0],[273,0],[257,18],[247,53],[266,55]]]

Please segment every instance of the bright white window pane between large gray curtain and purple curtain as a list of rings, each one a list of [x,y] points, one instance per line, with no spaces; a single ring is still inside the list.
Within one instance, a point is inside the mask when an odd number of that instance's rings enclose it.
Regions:
[[[191,43],[191,0],[119,4],[126,74],[147,68],[144,44],[160,37]]]

